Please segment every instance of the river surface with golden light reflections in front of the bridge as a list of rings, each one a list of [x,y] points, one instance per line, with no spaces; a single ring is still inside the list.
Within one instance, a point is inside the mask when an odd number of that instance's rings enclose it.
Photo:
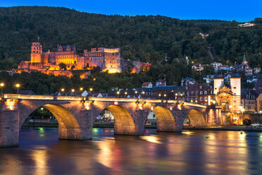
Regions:
[[[183,131],[58,140],[57,128],[23,128],[0,148],[0,174],[261,174],[262,133]],[[206,137],[208,135],[208,137]]]

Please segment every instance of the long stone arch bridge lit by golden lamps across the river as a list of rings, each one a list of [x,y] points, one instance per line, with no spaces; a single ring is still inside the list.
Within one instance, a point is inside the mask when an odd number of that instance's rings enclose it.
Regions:
[[[0,97],[0,147],[16,146],[27,117],[44,107],[58,121],[58,138],[92,139],[96,116],[104,109],[115,118],[114,133],[143,135],[150,111],[157,118],[157,131],[182,131],[186,117],[191,126],[220,126],[220,107],[168,99],[70,97],[4,94]]]

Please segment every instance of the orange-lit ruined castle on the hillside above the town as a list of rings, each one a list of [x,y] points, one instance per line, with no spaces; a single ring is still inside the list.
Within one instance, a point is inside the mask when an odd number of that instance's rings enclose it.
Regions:
[[[140,61],[123,59],[120,56],[120,48],[92,48],[91,52],[85,49],[84,53],[77,53],[75,45],[58,45],[56,52],[43,52],[40,42],[32,42],[30,59],[30,61],[21,61],[18,70],[35,70],[55,76],[73,76],[72,70],[92,70],[97,66],[101,71],[108,71],[108,73],[123,72],[128,65],[132,65],[132,73],[138,73],[148,71],[151,66]],[[61,68],[62,63],[66,67]]]

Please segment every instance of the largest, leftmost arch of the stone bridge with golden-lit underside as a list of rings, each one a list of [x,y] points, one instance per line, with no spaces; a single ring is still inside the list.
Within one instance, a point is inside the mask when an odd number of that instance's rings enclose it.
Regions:
[[[66,109],[66,107],[63,107],[60,104],[44,104],[40,105],[39,107],[48,109],[56,117],[56,120],[58,121],[59,139],[80,139],[81,131],[77,119],[75,119],[75,116],[71,113],[71,111]],[[32,113],[32,111],[35,111],[35,109],[38,109],[39,107],[33,105],[22,110],[20,113],[20,127],[24,123],[25,119],[27,119],[27,117]]]

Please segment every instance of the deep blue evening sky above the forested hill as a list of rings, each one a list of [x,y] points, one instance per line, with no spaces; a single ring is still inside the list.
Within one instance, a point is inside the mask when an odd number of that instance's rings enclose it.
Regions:
[[[239,22],[262,17],[262,0],[0,0],[0,6],[64,6],[106,15],[161,15],[180,19]]]

